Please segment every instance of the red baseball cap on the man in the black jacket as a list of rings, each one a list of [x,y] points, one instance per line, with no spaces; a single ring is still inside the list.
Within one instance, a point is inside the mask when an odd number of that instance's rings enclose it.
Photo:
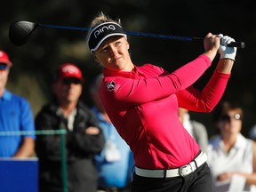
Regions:
[[[80,68],[77,68],[73,63],[64,63],[60,65],[57,70],[57,73],[53,76],[55,81],[62,80],[64,78],[77,78],[81,82],[84,82],[82,71]]]

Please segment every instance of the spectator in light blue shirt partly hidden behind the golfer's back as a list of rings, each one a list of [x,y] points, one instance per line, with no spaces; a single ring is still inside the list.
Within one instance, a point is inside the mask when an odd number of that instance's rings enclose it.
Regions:
[[[90,86],[94,106],[92,111],[100,121],[106,145],[104,150],[95,156],[96,166],[100,172],[100,191],[128,191],[132,175],[133,156],[126,142],[120,137],[111,123],[100,100],[100,84],[103,75],[96,76]]]

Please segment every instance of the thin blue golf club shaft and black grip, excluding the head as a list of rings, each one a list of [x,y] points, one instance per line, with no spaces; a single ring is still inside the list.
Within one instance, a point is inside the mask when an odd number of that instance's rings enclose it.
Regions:
[[[43,27],[43,28],[64,28],[64,29],[72,29],[72,30],[89,31],[89,28],[78,28],[78,27],[45,25],[45,24],[38,24],[38,26]],[[150,37],[156,37],[156,38],[165,38],[165,39],[187,41],[187,42],[203,42],[203,40],[204,40],[204,38],[202,38],[202,37],[170,36],[170,35],[153,34],[153,33],[141,33],[141,32],[132,32],[132,31],[126,31],[125,33],[127,35],[132,35],[132,36],[150,36]],[[244,44],[244,42],[231,42],[230,44],[228,44],[228,46],[244,49],[245,44]]]

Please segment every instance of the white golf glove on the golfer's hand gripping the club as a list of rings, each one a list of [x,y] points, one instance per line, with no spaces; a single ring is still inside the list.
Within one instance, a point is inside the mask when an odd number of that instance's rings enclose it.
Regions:
[[[220,39],[220,59],[230,59],[235,60],[236,58],[236,47],[228,47],[227,44],[231,42],[235,42],[235,39],[231,38],[230,36],[223,36],[222,34],[219,35]]]

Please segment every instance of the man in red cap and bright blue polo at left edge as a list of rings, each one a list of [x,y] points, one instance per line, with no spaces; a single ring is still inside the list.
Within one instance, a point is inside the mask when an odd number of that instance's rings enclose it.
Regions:
[[[24,158],[34,154],[35,124],[28,100],[5,89],[12,62],[0,51],[0,157]],[[29,132],[12,135],[12,132]]]

